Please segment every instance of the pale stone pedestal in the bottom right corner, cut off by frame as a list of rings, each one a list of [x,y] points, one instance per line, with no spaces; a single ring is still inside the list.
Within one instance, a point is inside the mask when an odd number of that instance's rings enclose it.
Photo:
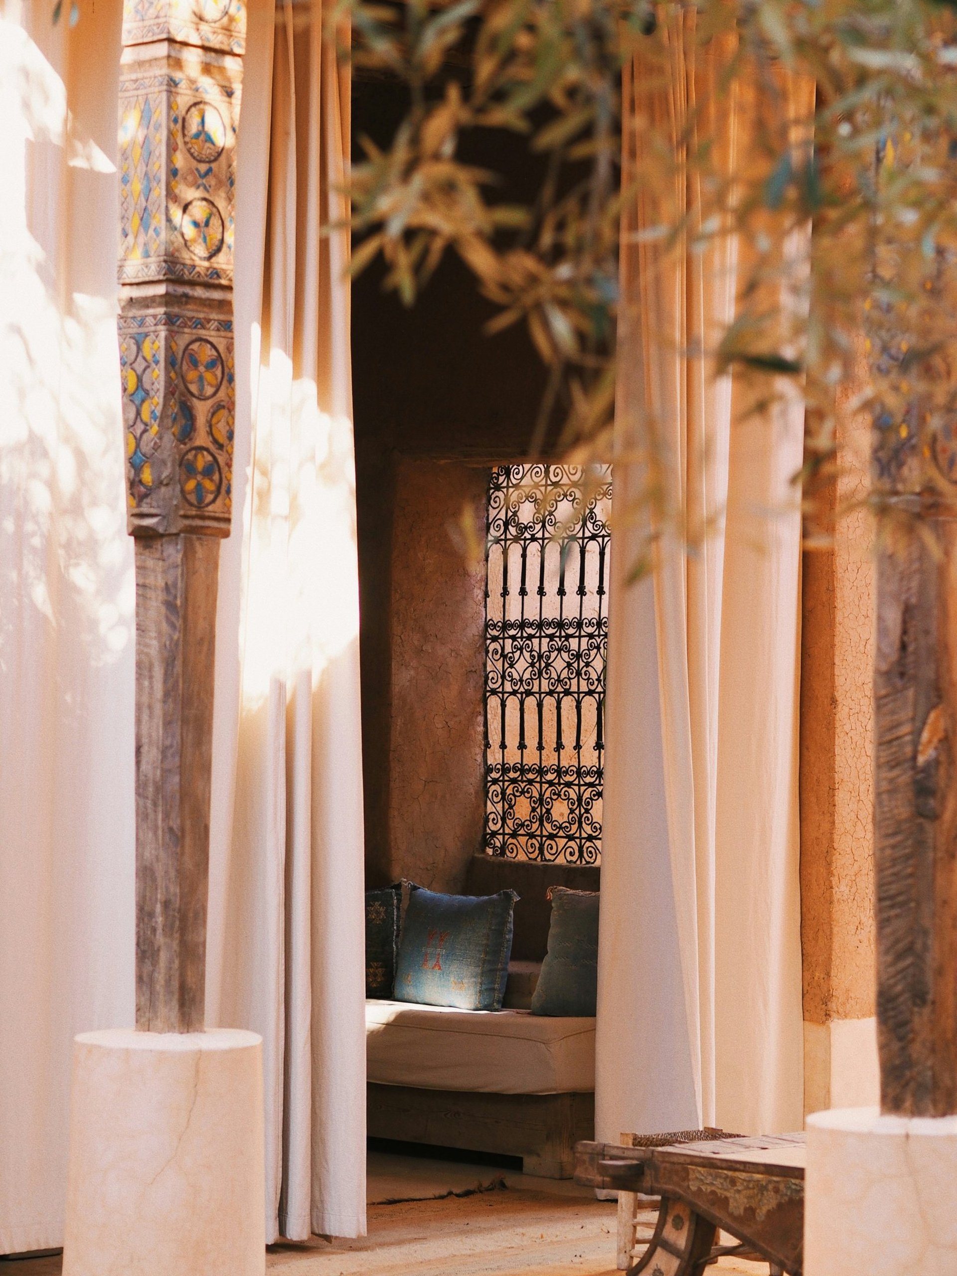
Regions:
[[[865,1272],[957,1272],[957,1116],[808,1118],[804,1276]]]

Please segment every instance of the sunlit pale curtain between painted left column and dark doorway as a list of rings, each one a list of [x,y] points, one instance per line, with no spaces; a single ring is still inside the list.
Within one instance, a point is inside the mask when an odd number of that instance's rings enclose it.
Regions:
[[[302,1240],[365,1233],[348,239],[324,234],[346,212],[350,79],[320,0],[274,18],[273,45],[272,5],[250,6],[240,122],[250,478],[217,623],[214,757],[235,769],[214,772],[207,1017],[263,1035],[267,1239]]]

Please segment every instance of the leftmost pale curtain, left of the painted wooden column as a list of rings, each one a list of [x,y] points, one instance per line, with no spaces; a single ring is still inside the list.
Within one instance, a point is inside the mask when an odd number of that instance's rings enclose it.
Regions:
[[[0,1253],[63,1243],[71,1040],[134,1014],[120,10],[0,17]]]

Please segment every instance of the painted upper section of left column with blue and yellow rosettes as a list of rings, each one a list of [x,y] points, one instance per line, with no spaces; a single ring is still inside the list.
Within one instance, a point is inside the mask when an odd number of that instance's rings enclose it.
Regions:
[[[228,536],[241,0],[126,0],[120,366],[133,536]]]

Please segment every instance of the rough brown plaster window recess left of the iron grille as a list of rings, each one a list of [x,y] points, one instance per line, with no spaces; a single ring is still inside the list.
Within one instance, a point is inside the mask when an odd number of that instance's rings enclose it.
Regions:
[[[487,481],[462,462],[396,467],[389,864],[436,891],[461,891],[482,849],[485,565],[456,530]]]

